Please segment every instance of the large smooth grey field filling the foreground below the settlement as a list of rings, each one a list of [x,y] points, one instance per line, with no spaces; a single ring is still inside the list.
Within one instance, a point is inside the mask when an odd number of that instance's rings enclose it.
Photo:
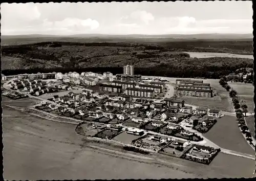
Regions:
[[[253,160],[222,153],[207,167],[161,154],[156,154],[154,161],[127,158],[121,150],[90,149],[91,143],[81,141],[75,133],[76,125],[38,119],[4,107],[5,115],[12,115],[3,118],[7,180],[252,177],[255,168]]]

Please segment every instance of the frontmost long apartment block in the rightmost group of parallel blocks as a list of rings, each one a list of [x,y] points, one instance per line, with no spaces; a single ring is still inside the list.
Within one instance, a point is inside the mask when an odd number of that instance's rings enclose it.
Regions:
[[[179,96],[212,97],[212,90],[178,87],[177,94]]]

